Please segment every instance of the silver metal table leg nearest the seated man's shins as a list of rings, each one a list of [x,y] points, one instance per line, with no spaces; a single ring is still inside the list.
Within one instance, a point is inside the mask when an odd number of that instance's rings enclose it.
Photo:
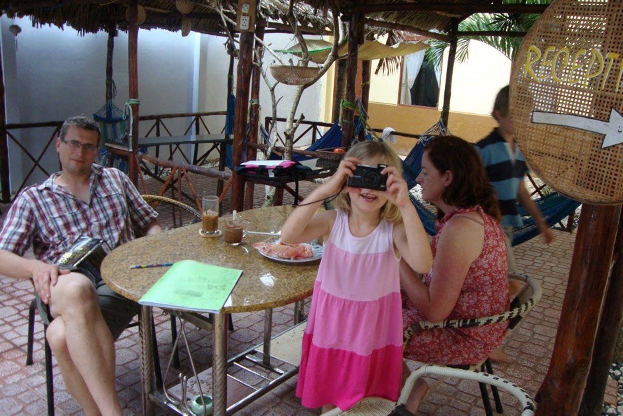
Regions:
[[[139,333],[141,338],[141,400],[143,401],[143,415],[153,415],[154,407],[150,402],[150,393],[155,390],[154,359],[153,359],[153,320],[151,307],[141,306],[139,313]]]

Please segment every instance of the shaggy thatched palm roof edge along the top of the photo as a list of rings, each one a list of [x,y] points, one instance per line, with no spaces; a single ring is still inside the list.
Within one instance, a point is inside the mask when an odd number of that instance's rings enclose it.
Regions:
[[[305,32],[324,34],[331,30],[331,10],[339,2],[340,12],[349,13],[361,7],[374,7],[366,12],[366,25],[376,27],[376,33],[388,29],[410,28],[421,31],[447,32],[454,17],[466,17],[473,12],[473,7],[482,11],[495,11],[495,7],[508,6],[521,0],[260,0],[260,15],[267,18],[269,26],[282,28],[281,18],[293,7],[297,20]],[[138,0],[146,9],[146,21],[141,27],[159,27],[170,31],[179,31],[183,15],[176,9],[175,0]],[[225,7],[235,10],[237,0],[221,0]],[[217,13],[217,0],[194,0],[193,10],[186,15],[191,21],[193,31],[208,34],[223,34],[224,25]],[[419,9],[407,10],[409,4],[421,5]],[[396,7],[403,5],[406,7]],[[128,0],[0,0],[0,12],[9,17],[30,16],[34,25],[53,24],[73,27],[81,33],[105,30],[110,22],[115,22],[120,29],[127,27],[125,12]],[[527,6],[524,6],[527,7]],[[393,11],[391,11],[393,9]],[[390,10],[390,11],[388,11]],[[234,14],[230,17],[235,19]],[[276,24],[274,22],[277,22]],[[375,24],[376,22],[376,24]],[[384,26],[383,26],[384,25]],[[392,26],[393,25],[393,26]],[[395,26],[404,26],[402,28]],[[384,27],[384,29],[383,29]],[[421,33],[422,34],[422,33]],[[426,33],[424,33],[426,34]]]

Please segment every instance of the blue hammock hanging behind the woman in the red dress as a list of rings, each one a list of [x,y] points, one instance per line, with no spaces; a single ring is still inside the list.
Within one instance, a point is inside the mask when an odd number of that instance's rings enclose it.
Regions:
[[[422,154],[424,154],[424,148],[429,143],[430,138],[422,138],[411,149],[411,152],[407,155],[406,159],[402,161],[402,176],[407,182],[409,189],[416,186],[416,177],[419,175],[422,169]],[[422,220],[424,229],[429,235],[435,234],[435,219],[437,215],[435,212],[429,210],[421,201],[410,194],[411,202],[414,204],[417,210],[417,214]],[[549,225],[553,227],[558,224],[569,214],[574,212],[579,207],[580,203],[562,196],[558,192],[552,192],[546,196],[535,199],[536,206],[541,210],[543,219]],[[513,246],[526,242],[539,234],[538,227],[535,220],[528,215],[528,213],[520,206],[519,214],[523,220],[523,226],[515,228],[513,231]]]

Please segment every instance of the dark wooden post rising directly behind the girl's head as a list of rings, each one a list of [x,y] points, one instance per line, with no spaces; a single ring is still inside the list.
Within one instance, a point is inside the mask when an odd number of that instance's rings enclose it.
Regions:
[[[357,54],[359,43],[363,39],[363,24],[361,24],[361,14],[354,13],[348,25],[348,64],[346,65],[346,100],[354,103],[355,100],[355,79],[357,77]],[[342,146],[350,146],[353,139],[354,111],[350,108],[342,110]]]

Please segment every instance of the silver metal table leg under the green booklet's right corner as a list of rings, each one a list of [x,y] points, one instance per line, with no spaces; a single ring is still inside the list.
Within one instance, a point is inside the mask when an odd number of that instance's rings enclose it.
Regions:
[[[214,314],[212,324],[212,396],[214,416],[227,413],[227,319],[229,314]]]

